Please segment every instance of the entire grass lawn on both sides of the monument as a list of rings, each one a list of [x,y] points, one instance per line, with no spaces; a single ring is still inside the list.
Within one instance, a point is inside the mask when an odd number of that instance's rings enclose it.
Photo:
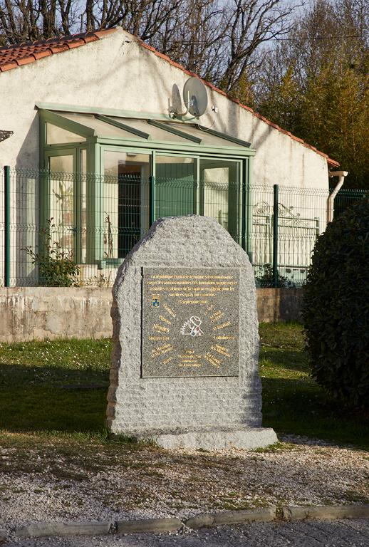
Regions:
[[[260,325],[264,425],[369,449],[369,424],[309,377],[301,325]],[[110,340],[0,343],[0,434],[105,439]]]

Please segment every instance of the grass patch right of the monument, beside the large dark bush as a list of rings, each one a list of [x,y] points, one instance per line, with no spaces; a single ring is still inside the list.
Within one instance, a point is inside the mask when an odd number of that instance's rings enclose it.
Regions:
[[[264,323],[259,332],[264,426],[368,450],[368,417],[348,412],[311,379],[301,325]]]

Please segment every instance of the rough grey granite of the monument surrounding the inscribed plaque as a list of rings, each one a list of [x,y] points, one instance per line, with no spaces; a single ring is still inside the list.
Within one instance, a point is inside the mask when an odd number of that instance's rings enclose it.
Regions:
[[[239,268],[238,377],[141,377],[142,267]],[[157,220],[120,266],[111,314],[107,423],[113,433],[155,437],[261,427],[254,273],[246,253],[215,219]],[[264,446],[276,441],[272,429],[266,432]]]

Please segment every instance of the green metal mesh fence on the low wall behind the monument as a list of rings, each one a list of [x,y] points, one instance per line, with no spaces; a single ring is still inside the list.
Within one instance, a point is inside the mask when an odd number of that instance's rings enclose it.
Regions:
[[[273,187],[235,181],[17,169],[9,171],[6,219],[4,172],[0,177],[0,283],[9,286],[111,286],[153,219],[186,214],[217,219],[248,252],[258,286],[273,285],[278,214],[278,285],[301,286],[332,207],[328,188],[280,186],[275,207]]]

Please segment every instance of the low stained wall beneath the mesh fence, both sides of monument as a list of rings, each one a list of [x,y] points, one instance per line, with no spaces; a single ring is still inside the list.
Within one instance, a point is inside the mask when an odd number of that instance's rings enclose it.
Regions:
[[[259,288],[260,322],[300,318],[301,289]],[[0,288],[0,342],[109,338],[111,288]]]

